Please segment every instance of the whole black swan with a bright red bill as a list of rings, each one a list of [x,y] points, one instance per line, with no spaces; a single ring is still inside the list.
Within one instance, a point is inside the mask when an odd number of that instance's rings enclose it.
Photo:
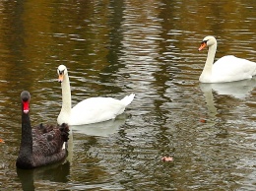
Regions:
[[[30,93],[22,92],[21,99],[22,141],[16,166],[33,168],[65,159],[69,126],[65,123],[57,127],[40,124],[32,129],[29,115]]]

